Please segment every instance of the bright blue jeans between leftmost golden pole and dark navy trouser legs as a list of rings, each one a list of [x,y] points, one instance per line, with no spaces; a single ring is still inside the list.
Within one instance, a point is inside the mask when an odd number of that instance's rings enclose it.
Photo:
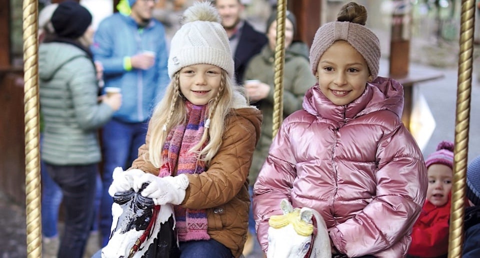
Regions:
[[[40,134],[40,148],[42,144]],[[58,210],[60,208],[62,194],[60,187],[48,175],[45,163],[40,159],[41,176],[41,234],[43,237],[52,238],[58,236]]]

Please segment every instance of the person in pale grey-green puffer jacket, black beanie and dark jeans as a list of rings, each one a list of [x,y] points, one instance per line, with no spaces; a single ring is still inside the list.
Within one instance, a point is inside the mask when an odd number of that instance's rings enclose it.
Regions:
[[[39,46],[40,105],[44,119],[41,159],[61,188],[65,228],[58,258],[81,258],[93,220],[100,162],[97,128],[121,105],[121,95],[98,98],[88,49],[92,16],[75,1],[58,5],[54,33]]]

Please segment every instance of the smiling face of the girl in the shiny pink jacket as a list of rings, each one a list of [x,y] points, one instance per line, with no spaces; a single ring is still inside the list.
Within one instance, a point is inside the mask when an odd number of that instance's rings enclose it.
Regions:
[[[344,40],[335,41],[321,55],[316,75],[323,95],[338,106],[358,98],[372,79],[363,56]]]

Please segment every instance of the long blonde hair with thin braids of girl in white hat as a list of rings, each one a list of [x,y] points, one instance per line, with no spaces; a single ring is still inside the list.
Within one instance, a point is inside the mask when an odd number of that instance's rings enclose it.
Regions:
[[[186,105],[182,100],[179,84],[179,71],[175,72],[163,99],[158,103],[150,119],[149,161],[156,168],[163,164],[161,152],[165,139],[175,126],[186,123]],[[195,152],[197,159],[206,165],[213,159],[222,142],[224,121],[233,107],[235,92],[232,80],[225,70],[221,70],[218,93],[208,103],[205,129],[201,140],[189,151]],[[204,148],[201,148],[206,143]]]

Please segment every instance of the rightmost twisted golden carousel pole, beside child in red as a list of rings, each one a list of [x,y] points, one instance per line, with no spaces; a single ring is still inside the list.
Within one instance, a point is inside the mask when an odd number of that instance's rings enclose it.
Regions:
[[[460,51],[456,91],[455,149],[453,186],[451,189],[450,233],[448,258],[460,258],[463,243],[465,178],[468,158],[471,69],[473,60],[473,31],[475,0],[461,1]]]

